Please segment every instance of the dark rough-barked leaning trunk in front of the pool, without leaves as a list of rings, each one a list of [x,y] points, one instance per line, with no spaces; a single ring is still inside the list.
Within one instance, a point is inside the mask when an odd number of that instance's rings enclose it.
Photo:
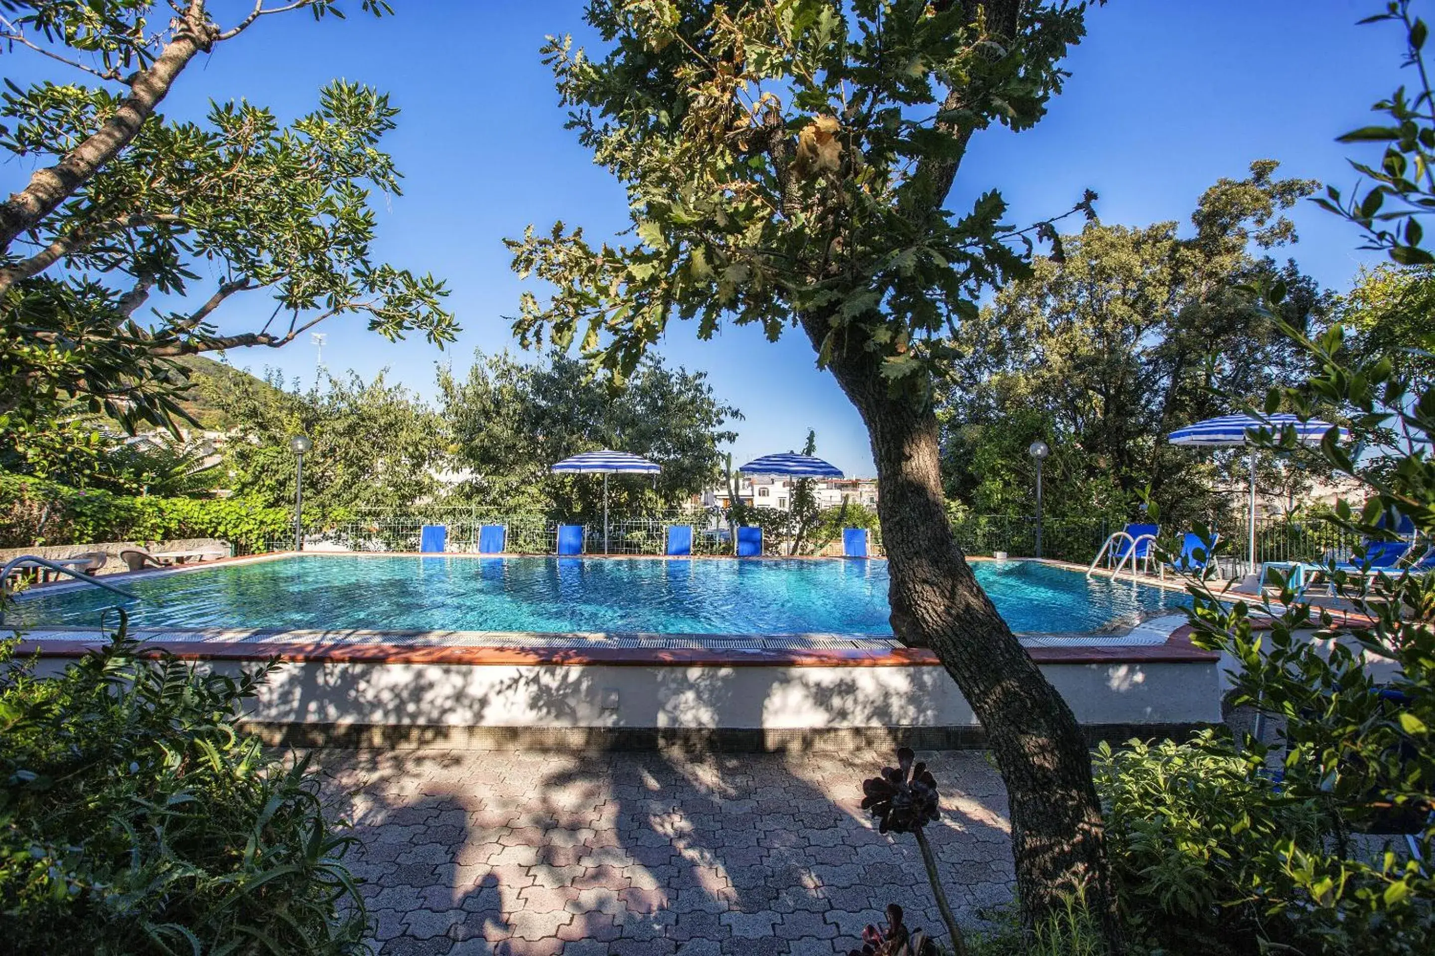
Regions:
[[[809,328],[811,333],[811,328]],[[971,705],[1006,783],[1027,929],[1081,892],[1121,949],[1091,754],[1066,701],[977,583],[947,523],[936,413],[893,397],[871,353],[832,371],[871,434],[893,631],[936,652]]]

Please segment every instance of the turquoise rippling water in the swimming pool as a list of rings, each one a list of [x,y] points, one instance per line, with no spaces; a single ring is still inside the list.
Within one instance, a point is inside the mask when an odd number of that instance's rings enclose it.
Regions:
[[[1177,592],[1029,562],[977,562],[1016,632],[1101,632]],[[139,628],[890,635],[884,560],[296,556],[125,580]],[[95,626],[116,596],[23,596],[22,626]],[[9,621],[7,621],[9,622]]]

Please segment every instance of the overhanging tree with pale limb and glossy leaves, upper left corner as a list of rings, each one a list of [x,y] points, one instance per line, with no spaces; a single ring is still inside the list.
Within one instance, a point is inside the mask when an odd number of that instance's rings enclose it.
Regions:
[[[248,102],[214,103],[201,122],[158,112],[197,57],[276,14],[342,16],[339,0],[255,0],[231,23],[211,6],[0,0],[6,56],[56,70],[0,95],[0,150],[33,168],[0,204],[10,429],[72,400],[126,424],[164,421],[182,414],[175,357],[278,347],[337,315],[387,338],[453,335],[443,284],[370,252],[370,191],[399,192],[377,148],[397,115],[386,95],[336,80],[288,125]],[[383,0],[357,6],[389,13]],[[234,300],[265,291],[261,327],[218,331]]]

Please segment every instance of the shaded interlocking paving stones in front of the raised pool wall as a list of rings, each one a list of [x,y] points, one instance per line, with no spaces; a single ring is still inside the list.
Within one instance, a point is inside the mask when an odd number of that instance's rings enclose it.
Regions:
[[[980,752],[921,754],[959,919],[1012,897],[1006,791]],[[861,781],[890,754],[319,751],[364,844],[389,955],[845,955],[901,903],[940,936],[916,841]]]

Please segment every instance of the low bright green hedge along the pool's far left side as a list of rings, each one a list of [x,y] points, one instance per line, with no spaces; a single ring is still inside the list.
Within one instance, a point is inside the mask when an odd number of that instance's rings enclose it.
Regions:
[[[0,474],[0,548],[221,537],[251,552],[293,533],[293,519],[245,497],[129,497]]]

